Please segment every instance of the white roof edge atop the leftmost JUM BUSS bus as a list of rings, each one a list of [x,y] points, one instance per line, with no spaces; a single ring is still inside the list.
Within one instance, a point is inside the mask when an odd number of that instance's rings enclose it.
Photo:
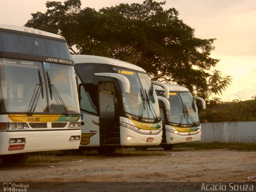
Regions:
[[[42,31],[42,30],[38,30],[38,29],[34,29],[34,28],[29,28],[29,27],[24,27],[24,26],[14,26],[14,25],[0,24],[0,28],[7,29],[7,30],[20,31],[20,32],[28,32],[28,33],[31,33],[31,34],[50,36],[50,37],[54,37],[54,38],[65,39],[63,36],[58,35],[58,34],[49,33],[49,32],[46,32],[46,31]]]

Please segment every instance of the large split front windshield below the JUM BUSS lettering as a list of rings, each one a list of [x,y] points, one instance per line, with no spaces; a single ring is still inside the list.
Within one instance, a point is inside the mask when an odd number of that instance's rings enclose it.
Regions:
[[[79,114],[74,66],[0,58],[0,74],[0,113]]]

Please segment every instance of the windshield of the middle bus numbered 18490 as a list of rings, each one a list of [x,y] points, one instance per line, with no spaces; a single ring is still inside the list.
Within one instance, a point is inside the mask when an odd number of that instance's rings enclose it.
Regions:
[[[126,76],[130,82],[130,93],[122,90],[124,111],[139,118],[158,118],[157,96],[148,75],[121,68],[114,68],[114,72]]]

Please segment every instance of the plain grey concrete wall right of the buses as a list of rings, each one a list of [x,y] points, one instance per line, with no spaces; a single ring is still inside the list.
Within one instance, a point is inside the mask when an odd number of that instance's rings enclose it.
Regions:
[[[256,121],[202,123],[201,142],[256,143]]]

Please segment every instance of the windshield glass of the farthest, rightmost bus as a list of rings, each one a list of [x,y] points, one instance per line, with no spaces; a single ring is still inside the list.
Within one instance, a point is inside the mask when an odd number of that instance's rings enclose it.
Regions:
[[[164,96],[164,91],[156,91],[159,96]],[[170,91],[170,112],[168,121],[179,125],[191,125],[199,122],[198,109],[190,92]]]

